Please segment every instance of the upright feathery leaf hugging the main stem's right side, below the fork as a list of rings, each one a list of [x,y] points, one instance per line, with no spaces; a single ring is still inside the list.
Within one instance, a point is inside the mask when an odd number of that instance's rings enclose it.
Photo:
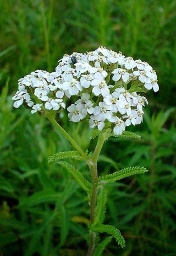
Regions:
[[[106,212],[106,201],[107,201],[106,191],[105,191],[105,188],[101,186],[100,192],[97,198],[94,225],[96,225],[97,223],[103,222],[105,218],[105,212]]]

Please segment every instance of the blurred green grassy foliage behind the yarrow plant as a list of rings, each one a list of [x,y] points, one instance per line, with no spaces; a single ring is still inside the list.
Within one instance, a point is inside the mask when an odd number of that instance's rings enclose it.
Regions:
[[[103,147],[101,175],[149,169],[107,185],[105,223],[122,231],[127,246],[112,239],[103,255],[176,255],[176,1],[9,0],[0,8],[0,255],[86,255],[86,194],[65,169],[47,163],[72,147],[11,99],[25,74],[52,72],[63,54],[98,46],[150,63],[160,85],[146,94],[142,125],[128,128],[141,140],[111,138]],[[85,150],[94,148],[87,127],[61,122]],[[84,163],[72,163],[90,179]]]

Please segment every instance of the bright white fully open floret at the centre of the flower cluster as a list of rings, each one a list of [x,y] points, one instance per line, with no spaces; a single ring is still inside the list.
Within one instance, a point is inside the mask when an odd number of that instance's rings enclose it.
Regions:
[[[103,97],[106,97],[106,95],[109,94],[109,89],[105,80],[95,79],[91,82],[91,85],[94,87],[92,93],[96,96],[101,94]]]

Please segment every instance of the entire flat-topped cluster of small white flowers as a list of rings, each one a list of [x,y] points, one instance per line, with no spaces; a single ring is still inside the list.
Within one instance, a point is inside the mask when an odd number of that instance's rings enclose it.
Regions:
[[[52,73],[36,70],[19,79],[15,108],[24,104],[43,115],[67,109],[70,121],[84,119],[92,129],[111,128],[120,135],[126,126],[142,122],[147,99],[137,92],[159,89],[148,63],[105,47],[64,55],[58,62]]]

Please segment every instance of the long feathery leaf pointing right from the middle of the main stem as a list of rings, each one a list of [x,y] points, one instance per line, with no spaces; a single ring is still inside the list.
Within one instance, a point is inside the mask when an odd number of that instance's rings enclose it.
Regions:
[[[124,179],[134,174],[141,174],[146,173],[148,170],[145,167],[127,167],[122,170],[118,170],[112,174],[107,174],[99,178],[100,182],[102,183],[111,183],[116,182],[117,180]]]

